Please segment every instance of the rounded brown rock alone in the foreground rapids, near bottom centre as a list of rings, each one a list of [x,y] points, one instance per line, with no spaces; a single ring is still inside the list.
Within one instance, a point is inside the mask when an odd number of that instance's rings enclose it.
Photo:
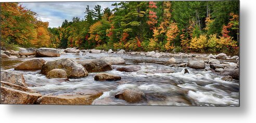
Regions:
[[[146,95],[139,89],[124,89],[118,92],[114,97],[129,103],[137,103],[146,100]]]

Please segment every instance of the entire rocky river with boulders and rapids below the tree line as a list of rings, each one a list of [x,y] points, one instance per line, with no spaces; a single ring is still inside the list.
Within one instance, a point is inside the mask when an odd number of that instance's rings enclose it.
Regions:
[[[7,104],[239,106],[239,57],[103,50],[1,50]]]

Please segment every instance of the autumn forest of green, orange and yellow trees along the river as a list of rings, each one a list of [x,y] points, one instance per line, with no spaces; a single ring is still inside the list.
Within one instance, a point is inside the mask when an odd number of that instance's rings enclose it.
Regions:
[[[117,2],[85,6],[58,28],[19,3],[1,3],[1,47],[239,54],[239,1]]]

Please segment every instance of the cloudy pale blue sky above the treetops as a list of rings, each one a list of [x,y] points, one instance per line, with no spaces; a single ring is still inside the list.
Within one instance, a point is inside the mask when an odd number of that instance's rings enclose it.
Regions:
[[[62,22],[67,19],[71,21],[73,17],[84,19],[85,7],[89,5],[93,9],[95,5],[100,5],[102,9],[111,6],[115,2],[32,2],[20,3],[27,9],[36,12],[42,21],[48,21],[51,28],[61,26]]]

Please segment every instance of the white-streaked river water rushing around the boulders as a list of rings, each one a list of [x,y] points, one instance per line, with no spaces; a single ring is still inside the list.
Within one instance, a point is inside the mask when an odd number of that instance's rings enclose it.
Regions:
[[[43,58],[52,61],[62,58],[77,60],[96,59],[101,57],[122,57],[126,64],[135,64],[141,67],[137,72],[120,72],[116,70],[106,73],[122,77],[118,81],[95,81],[96,73],[89,73],[87,77],[77,79],[47,79],[40,71],[18,71],[24,74],[29,88],[42,94],[54,95],[86,94],[104,92],[94,105],[172,105],[172,106],[238,106],[239,81],[224,81],[218,73],[195,70],[189,67],[170,67],[167,65],[168,57],[152,58],[131,54],[87,53],[85,56],[68,53],[58,58]],[[14,70],[20,62],[33,59],[2,59],[2,69]],[[189,58],[175,58],[177,62],[185,63]],[[221,61],[233,64],[233,61]],[[123,64],[124,65],[124,64]],[[209,67],[209,66],[207,66]],[[172,69],[174,73],[159,73],[165,69]],[[189,73],[185,74],[188,69]],[[125,88],[142,90],[147,100],[140,103],[127,103],[114,98],[114,94]]]

